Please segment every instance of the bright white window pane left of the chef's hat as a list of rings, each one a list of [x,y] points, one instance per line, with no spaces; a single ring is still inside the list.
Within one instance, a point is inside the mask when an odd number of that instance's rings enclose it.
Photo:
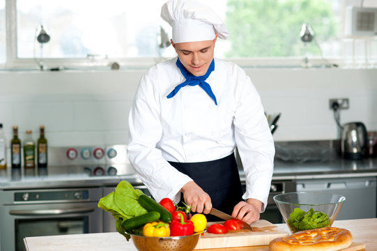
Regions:
[[[17,57],[160,56],[156,21],[162,3],[17,0]],[[41,25],[51,37],[42,45],[36,41]]]

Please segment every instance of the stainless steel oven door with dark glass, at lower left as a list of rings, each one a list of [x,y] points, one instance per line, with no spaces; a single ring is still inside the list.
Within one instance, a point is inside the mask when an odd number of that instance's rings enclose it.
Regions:
[[[1,250],[24,250],[28,236],[87,234],[102,231],[97,202],[0,206]]]

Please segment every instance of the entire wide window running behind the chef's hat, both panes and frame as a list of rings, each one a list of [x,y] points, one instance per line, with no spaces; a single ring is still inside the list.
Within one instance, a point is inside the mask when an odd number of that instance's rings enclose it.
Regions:
[[[165,1],[0,0],[0,65],[108,66],[116,61],[121,66],[151,66],[176,56],[174,49],[166,46],[171,27],[160,17]],[[5,8],[5,2],[10,6]],[[304,57],[318,61],[345,60],[350,50],[355,52],[355,46],[364,43],[364,40],[350,43],[344,38],[345,7],[364,4],[377,8],[372,0],[205,0],[205,3],[222,17],[231,33],[228,40],[217,40],[215,56],[243,61],[243,66],[287,66],[291,61],[297,66]],[[310,43],[300,40],[304,23],[314,31]],[[42,28],[50,38],[45,43],[37,39]],[[8,45],[6,29],[10,36]],[[364,47],[376,44],[376,40],[367,41]],[[369,52],[376,54],[376,50],[371,48]]]

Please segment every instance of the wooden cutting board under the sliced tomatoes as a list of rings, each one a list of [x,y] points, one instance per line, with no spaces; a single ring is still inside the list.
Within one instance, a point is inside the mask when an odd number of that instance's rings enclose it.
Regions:
[[[214,223],[224,222],[210,222],[208,226]],[[226,234],[210,234],[206,232],[199,238],[195,250],[268,245],[275,238],[289,235],[288,232],[279,229],[279,227],[267,220],[258,220],[252,223],[252,227],[254,231],[241,229],[238,231],[229,231]]]

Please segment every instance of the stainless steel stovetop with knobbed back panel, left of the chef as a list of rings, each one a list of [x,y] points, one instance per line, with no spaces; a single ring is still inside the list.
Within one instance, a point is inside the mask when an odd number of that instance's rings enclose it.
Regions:
[[[0,172],[0,188],[116,185],[121,180],[141,184],[127,158],[126,145],[51,147],[47,168]]]

